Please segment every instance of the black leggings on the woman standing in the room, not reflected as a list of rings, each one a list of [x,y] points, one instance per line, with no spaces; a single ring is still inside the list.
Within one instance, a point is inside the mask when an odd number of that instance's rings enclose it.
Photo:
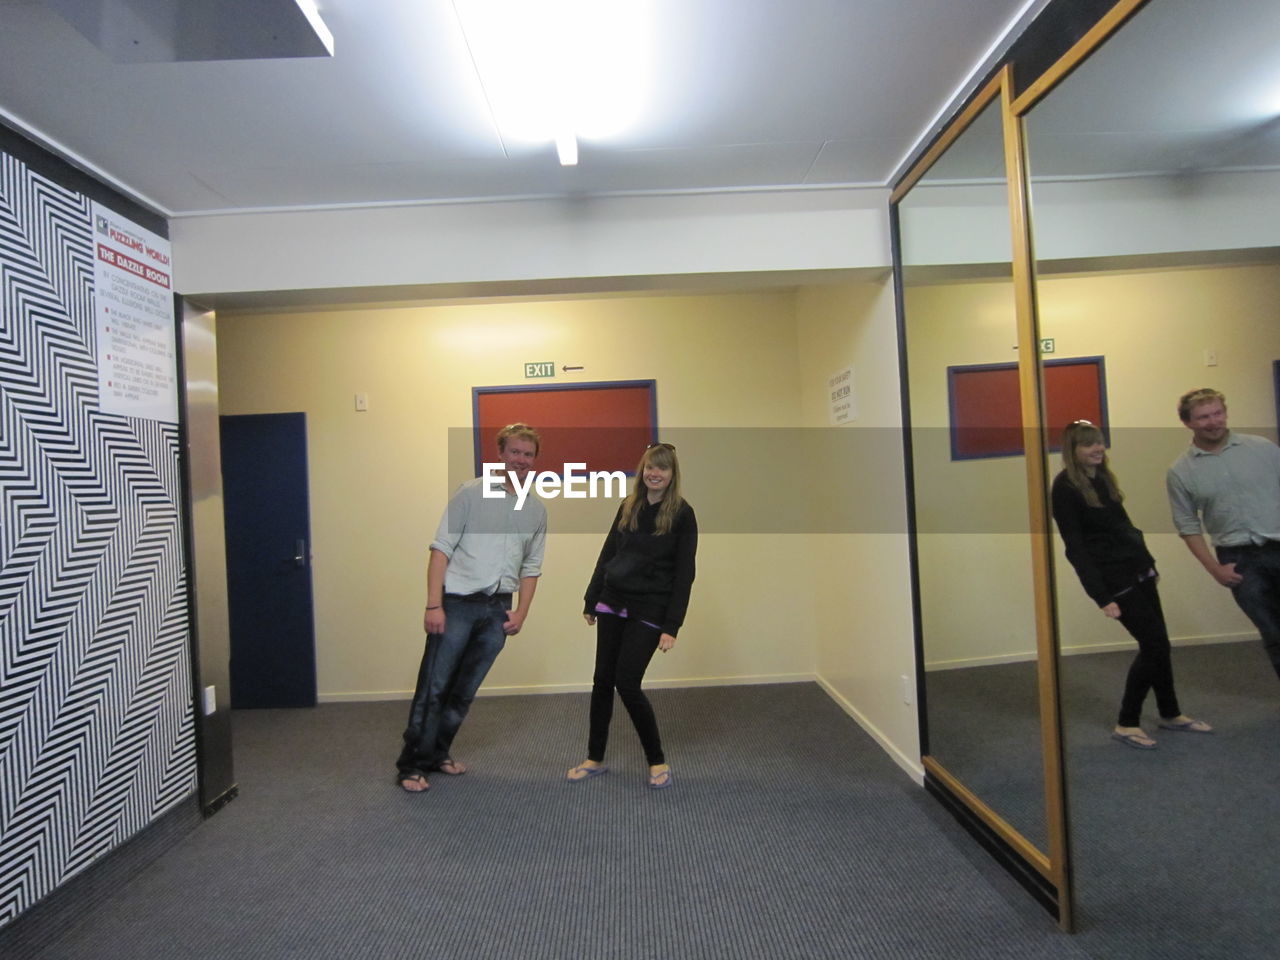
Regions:
[[[649,698],[640,690],[644,672],[658,649],[662,631],[637,620],[599,613],[595,621],[595,676],[591,681],[591,731],[586,755],[600,763],[609,742],[609,721],[613,719],[613,690],[631,714],[645,759],[650,767],[666,763],[658,721]]]

